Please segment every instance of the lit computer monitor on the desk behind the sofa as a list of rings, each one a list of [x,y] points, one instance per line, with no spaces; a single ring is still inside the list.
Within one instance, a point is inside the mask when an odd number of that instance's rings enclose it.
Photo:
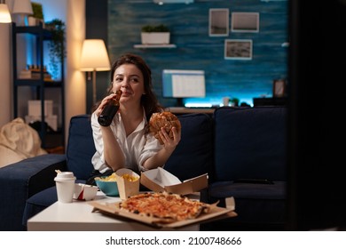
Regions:
[[[162,90],[165,98],[205,97],[204,71],[164,69]]]

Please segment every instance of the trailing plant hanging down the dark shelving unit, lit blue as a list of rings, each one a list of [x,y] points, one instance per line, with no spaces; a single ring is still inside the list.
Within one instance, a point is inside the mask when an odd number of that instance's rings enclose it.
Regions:
[[[49,41],[50,68],[51,76],[58,77],[58,65],[66,57],[65,49],[65,22],[54,19],[45,23],[45,28],[51,31],[51,40]]]

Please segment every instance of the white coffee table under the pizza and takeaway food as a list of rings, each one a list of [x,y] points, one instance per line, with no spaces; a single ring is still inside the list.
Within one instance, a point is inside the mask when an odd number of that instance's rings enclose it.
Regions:
[[[106,197],[98,191],[95,200],[117,202],[119,197]],[[29,231],[158,231],[158,230],[199,230],[199,225],[186,226],[180,229],[156,229],[137,221],[117,220],[102,213],[92,213],[93,207],[86,201],[74,200],[73,203],[59,203],[47,207],[28,220]]]

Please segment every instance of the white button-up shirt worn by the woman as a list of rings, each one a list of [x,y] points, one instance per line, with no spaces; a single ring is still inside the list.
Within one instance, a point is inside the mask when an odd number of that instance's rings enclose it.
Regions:
[[[145,160],[149,157],[153,157],[153,155],[162,148],[162,145],[157,139],[155,139],[153,134],[147,133],[145,135],[146,122],[144,115],[142,122],[138,124],[136,130],[133,133],[130,133],[128,137],[126,137],[120,113],[117,113],[114,116],[112,124],[110,125],[116,141],[118,141],[125,157],[125,167],[136,173],[145,171],[145,168],[143,167]],[[96,148],[96,152],[91,158],[91,163],[100,173],[105,173],[106,170],[110,169],[110,167],[106,165],[102,133],[100,124],[98,124],[98,116],[95,113],[91,116],[91,127]]]

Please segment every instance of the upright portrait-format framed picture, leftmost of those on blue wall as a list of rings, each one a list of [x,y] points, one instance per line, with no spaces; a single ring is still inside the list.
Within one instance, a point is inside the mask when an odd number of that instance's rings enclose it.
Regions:
[[[209,9],[209,36],[228,36],[229,10]]]

